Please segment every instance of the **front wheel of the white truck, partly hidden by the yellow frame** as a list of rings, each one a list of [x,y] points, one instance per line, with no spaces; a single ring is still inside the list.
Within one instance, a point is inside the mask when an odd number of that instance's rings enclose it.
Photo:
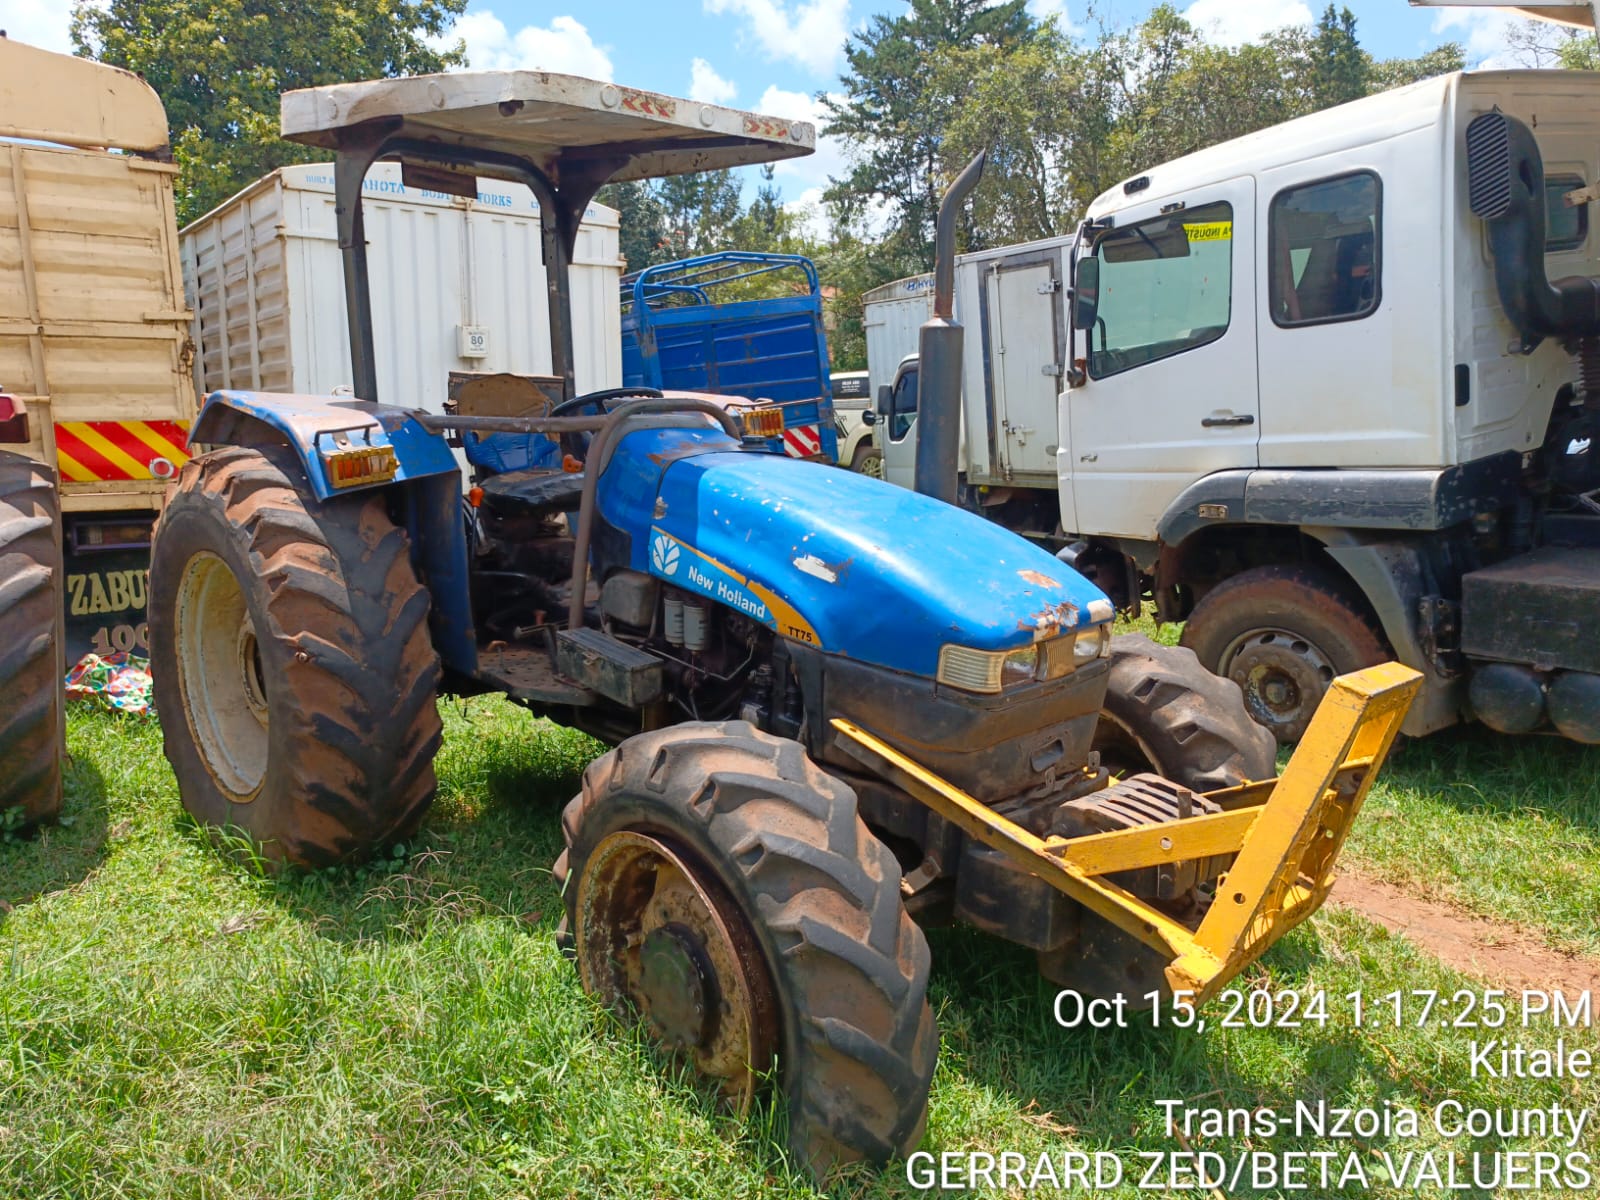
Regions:
[[[1182,645],[1240,686],[1282,746],[1306,733],[1336,675],[1390,658],[1344,590],[1306,566],[1258,566],[1218,584],[1189,614]]]

